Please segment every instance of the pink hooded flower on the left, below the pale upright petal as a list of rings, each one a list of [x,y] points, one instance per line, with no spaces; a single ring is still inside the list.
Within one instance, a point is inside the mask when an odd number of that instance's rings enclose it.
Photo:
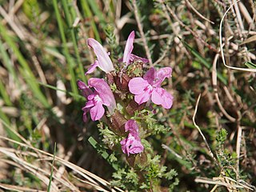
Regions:
[[[87,98],[86,106],[82,108],[83,121],[87,121],[87,112],[90,111],[90,118],[93,121],[97,121],[105,114],[103,107],[107,106],[110,113],[114,112],[116,108],[116,102],[114,100],[114,94],[110,90],[110,86],[102,78],[90,78],[88,86],[82,81],[78,81],[78,87],[82,90],[82,94]],[[94,88],[94,91],[89,87]]]

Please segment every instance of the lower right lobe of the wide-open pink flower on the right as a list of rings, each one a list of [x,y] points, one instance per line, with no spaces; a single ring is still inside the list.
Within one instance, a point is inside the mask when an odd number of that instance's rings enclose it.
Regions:
[[[155,88],[151,95],[151,100],[156,105],[162,105],[166,109],[170,109],[173,105],[174,97],[162,88]]]

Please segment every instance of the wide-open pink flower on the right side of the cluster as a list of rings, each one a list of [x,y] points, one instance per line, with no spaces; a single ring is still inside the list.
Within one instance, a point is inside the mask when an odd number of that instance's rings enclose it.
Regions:
[[[151,99],[154,104],[170,109],[173,104],[173,96],[162,89],[161,83],[165,78],[170,78],[171,72],[170,67],[158,71],[152,67],[144,74],[143,78],[131,79],[128,86],[130,93],[135,94],[135,102],[141,105]]]

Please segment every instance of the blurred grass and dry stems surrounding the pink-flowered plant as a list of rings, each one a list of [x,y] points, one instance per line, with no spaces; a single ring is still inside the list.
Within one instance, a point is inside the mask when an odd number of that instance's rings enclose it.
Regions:
[[[87,38],[120,58],[135,30],[133,53],[173,68],[174,106],[155,117],[170,131],[148,140],[174,191],[254,191],[255,19],[254,0],[0,0],[0,190],[119,190],[76,81],[94,62]],[[223,65],[220,38],[226,65],[250,71]]]

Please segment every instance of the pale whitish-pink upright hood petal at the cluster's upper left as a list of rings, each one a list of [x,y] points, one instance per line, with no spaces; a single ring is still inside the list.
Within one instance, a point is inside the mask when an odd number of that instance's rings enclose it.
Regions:
[[[97,42],[94,38],[88,38],[87,44],[94,49],[94,53],[98,58],[99,68],[101,68],[106,73],[110,73],[110,71],[114,70],[114,66],[110,60],[109,55],[106,53],[103,46],[99,42]]]

